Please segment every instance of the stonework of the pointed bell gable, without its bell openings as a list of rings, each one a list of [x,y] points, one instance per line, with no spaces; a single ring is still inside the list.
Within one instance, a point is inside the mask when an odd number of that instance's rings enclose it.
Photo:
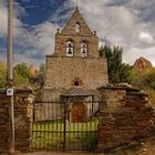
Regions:
[[[75,24],[80,23],[80,32],[75,32]],[[81,43],[84,41],[87,44],[89,58],[99,58],[99,38],[87,27],[85,20],[80,13],[79,9],[75,9],[62,32],[55,35],[54,54],[65,56],[66,54],[66,41],[72,40],[74,44],[74,56],[81,58]]]

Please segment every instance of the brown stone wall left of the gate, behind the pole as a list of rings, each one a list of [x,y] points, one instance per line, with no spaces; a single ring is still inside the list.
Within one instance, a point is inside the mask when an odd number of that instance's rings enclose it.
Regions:
[[[14,138],[16,151],[30,152],[32,137],[31,90],[16,90],[14,93]],[[0,153],[9,151],[9,97],[0,90]]]

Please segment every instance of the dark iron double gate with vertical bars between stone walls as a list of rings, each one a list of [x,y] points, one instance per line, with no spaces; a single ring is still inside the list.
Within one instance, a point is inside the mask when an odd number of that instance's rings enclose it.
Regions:
[[[33,149],[95,149],[99,110],[99,102],[34,103]]]

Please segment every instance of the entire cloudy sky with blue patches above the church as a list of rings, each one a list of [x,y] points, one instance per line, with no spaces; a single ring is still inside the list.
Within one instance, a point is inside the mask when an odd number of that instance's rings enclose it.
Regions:
[[[0,0],[0,59],[7,55],[7,3]],[[13,0],[14,63],[39,65],[53,53],[54,34],[65,25],[76,0]],[[145,56],[155,65],[155,0],[78,0],[100,45],[124,49],[123,61]]]

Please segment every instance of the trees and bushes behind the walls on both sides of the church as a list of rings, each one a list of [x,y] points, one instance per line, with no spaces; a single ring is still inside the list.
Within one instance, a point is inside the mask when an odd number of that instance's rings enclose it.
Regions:
[[[130,83],[135,87],[149,91],[152,96],[155,93],[155,68],[147,72],[133,70],[130,64],[122,62],[123,49],[120,46],[111,48],[108,45],[101,46],[99,50],[100,56],[107,59],[108,81],[112,84]],[[30,85],[33,89],[41,89],[44,81],[44,64],[41,64],[35,75],[29,71],[29,65],[24,62],[19,63],[13,69],[14,86]],[[7,66],[3,61],[0,61],[0,89],[6,87]],[[155,100],[154,100],[155,101]]]

